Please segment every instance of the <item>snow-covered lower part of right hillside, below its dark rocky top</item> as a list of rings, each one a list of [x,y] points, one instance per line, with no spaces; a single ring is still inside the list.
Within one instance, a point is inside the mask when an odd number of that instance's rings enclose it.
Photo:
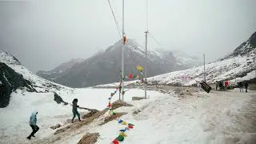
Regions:
[[[206,64],[206,81],[215,82],[216,80],[234,79],[238,75],[244,75],[238,78],[241,81],[256,78],[256,57],[254,54],[246,56],[238,56],[225,59],[219,62]],[[148,78],[148,82],[158,82],[160,84],[177,84],[181,83],[182,77],[188,80],[183,82],[183,85],[191,85],[195,80],[202,80],[204,66],[194,67],[188,70],[174,71],[168,74],[161,74]],[[189,79],[190,78],[190,79]]]

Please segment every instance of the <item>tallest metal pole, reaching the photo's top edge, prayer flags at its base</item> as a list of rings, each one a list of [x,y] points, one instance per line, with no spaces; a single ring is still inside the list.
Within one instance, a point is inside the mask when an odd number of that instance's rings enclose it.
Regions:
[[[125,27],[124,27],[124,23],[125,23],[125,1],[122,0],[122,102],[124,101],[124,85],[123,85],[123,78],[124,78],[124,34],[125,34]]]

